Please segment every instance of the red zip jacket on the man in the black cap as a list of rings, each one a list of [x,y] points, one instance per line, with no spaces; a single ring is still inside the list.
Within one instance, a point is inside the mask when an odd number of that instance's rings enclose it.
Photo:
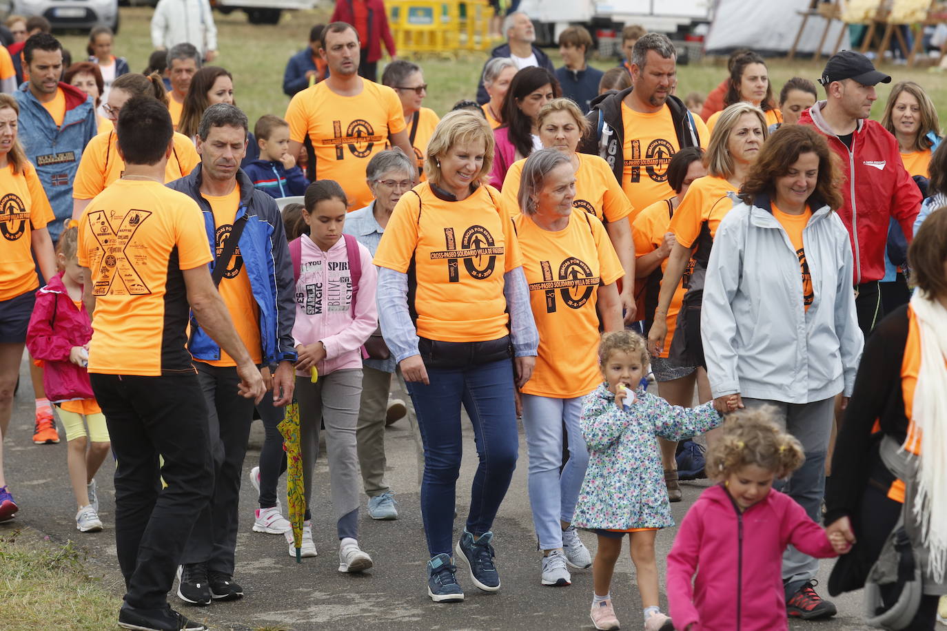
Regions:
[[[910,243],[922,201],[920,190],[904,169],[898,141],[884,127],[873,120],[859,120],[849,151],[822,117],[824,105],[825,101],[819,101],[803,112],[799,124],[812,125],[826,136],[829,147],[842,159],[845,202],[838,216],[851,238],[854,284],[881,280],[890,219],[898,221]]]

